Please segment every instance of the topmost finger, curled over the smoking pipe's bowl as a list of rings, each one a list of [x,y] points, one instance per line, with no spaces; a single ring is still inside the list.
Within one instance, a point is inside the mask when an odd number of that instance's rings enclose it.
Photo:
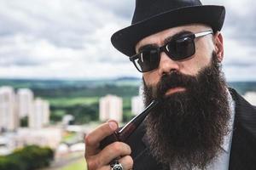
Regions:
[[[118,128],[117,122],[109,121],[97,127],[85,137],[85,156],[96,155],[100,141]]]

